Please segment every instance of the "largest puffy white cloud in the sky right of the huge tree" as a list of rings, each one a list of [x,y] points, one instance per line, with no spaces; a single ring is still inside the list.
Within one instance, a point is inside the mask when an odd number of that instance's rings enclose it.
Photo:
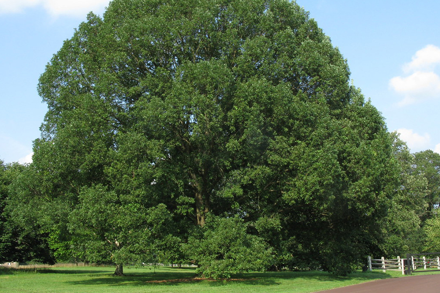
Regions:
[[[412,61],[402,67],[407,76],[396,76],[390,80],[390,87],[403,96],[398,105],[411,105],[439,98],[440,76],[435,71],[439,64],[439,47],[427,45],[418,50]]]

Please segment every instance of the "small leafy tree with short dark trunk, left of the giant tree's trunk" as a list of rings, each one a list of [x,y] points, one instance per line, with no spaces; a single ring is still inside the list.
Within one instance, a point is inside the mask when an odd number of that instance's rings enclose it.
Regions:
[[[146,209],[97,185],[83,189],[69,221],[77,251],[91,262],[114,263],[114,274],[123,275],[124,264],[153,257],[155,243],[167,233],[165,220],[169,218],[162,204]]]

